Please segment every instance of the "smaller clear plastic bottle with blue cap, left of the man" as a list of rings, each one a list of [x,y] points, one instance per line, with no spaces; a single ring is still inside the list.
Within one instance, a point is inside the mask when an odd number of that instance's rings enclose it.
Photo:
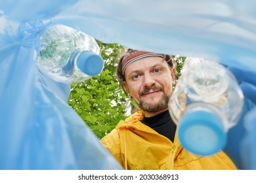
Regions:
[[[37,66],[56,81],[82,82],[102,71],[104,62],[95,39],[72,27],[47,27],[37,45]]]

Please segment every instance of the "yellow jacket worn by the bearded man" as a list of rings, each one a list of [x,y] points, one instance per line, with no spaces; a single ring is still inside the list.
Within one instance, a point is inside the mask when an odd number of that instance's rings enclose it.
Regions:
[[[102,144],[116,157],[124,169],[236,169],[232,161],[219,152],[214,156],[191,154],[178,141],[174,143],[154,129],[142,124],[142,110],[121,120]]]

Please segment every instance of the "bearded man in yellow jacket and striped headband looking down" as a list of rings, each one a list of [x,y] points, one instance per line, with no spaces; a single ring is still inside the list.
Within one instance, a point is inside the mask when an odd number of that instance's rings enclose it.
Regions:
[[[182,148],[168,111],[175,74],[171,56],[129,49],[117,79],[141,110],[121,120],[102,144],[125,169],[236,169],[224,152],[202,157]]]

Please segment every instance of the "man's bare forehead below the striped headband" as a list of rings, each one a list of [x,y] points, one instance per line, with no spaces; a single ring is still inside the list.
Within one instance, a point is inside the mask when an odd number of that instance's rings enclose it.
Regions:
[[[163,61],[163,58],[160,57],[148,57],[139,59],[133,63],[130,63],[125,69],[125,74],[131,73],[133,71],[143,71],[152,69],[152,67],[168,67],[168,63]]]

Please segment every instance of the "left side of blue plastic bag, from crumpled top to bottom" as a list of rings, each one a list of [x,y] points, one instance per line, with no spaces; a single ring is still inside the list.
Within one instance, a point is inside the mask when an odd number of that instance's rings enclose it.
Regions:
[[[0,33],[0,169],[122,169],[67,104],[70,85],[37,70],[36,39],[47,25]]]

